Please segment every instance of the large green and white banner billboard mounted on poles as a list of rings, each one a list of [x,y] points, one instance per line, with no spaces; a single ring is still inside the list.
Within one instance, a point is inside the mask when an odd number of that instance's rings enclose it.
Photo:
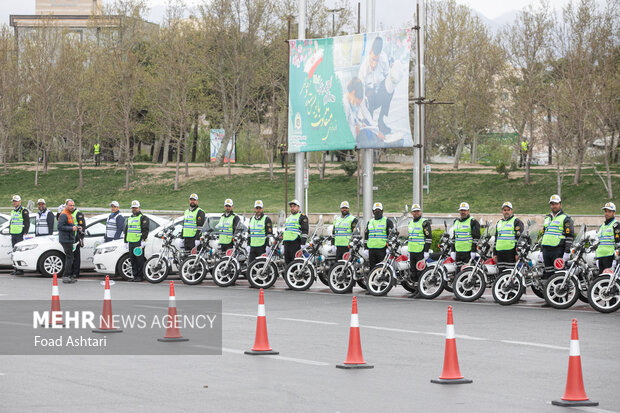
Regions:
[[[411,29],[289,41],[289,152],[413,146]]]

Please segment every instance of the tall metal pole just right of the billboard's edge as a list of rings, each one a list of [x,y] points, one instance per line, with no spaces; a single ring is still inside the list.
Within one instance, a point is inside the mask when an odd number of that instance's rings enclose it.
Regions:
[[[423,207],[424,171],[424,0],[416,3],[416,81],[413,134],[413,203]]]

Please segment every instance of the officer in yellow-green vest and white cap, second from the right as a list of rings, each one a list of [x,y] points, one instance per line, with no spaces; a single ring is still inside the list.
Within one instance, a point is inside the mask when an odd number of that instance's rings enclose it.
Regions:
[[[553,275],[553,262],[556,259],[562,258],[564,262],[568,260],[575,239],[573,220],[562,210],[562,199],[559,195],[552,195],[549,198],[549,207],[551,213],[545,217],[543,237],[540,243],[543,261],[545,262],[544,279]]]

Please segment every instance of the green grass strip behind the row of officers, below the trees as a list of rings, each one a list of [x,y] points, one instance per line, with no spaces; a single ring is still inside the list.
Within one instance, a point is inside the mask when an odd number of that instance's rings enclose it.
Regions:
[[[60,205],[66,198],[73,198],[78,206],[106,207],[111,200],[117,200],[122,209],[127,209],[133,199],[138,199],[144,209],[182,210],[187,205],[189,194],[196,192],[200,196],[201,207],[208,211],[222,210],[225,198],[234,200],[237,212],[252,211],[256,199],[263,200],[267,212],[277,212],[285,207],[284,174],[279,168],[273,181],[269,180],[268,173],[248,170],[243,175],[233,175],[232,180],[215,176],[185,181],[178,191],[174,191],[170,183],[174,171],[151,176],[144,171],[149,166],[152,165],[136,165],[129,191],[124,189],[125,171],[120,168],[105,166],[85,169],[85,185],[81,189],[77,185],[78,171],[69,165],[54,165],[55,168],[50,169],[47,175],[39,174],[38,187],[33,185],[34,171],[10,168],[8,175],[0,174],[0,197],[5,200],[1,206],[10,208],[10,196],[17,193],[24,200],[45,198],[50,207]],[[620,169],[614,167],[614,170]],[[288,198],[292,199],[294,172],[289,172]],[[600,214],[601,206],[607,202],[600,178],[589,169],[584,171],[580,185],[572,185],[572,179],[572,174],[567,175],[562,187],[566,212]],[[467,170],[431,172],[430,180],[430,193],[424,191],[424,209],[433,213],[456,213],[460,202],[470,204],[472,215],[499,212],[502,203],[510,201],[517,214],[541,214],[548,211],[549,196],[556,192],[556,177],[552,169],[532,170],[530,185],[525,185],[523,178],[505,179],[493,171],[487,174],[472,174]],[[337,212],[340,202],[345,199],[355,212],[355,185],[355,176],[328,175],[321,181],[312,171],[308,190],[310,212]],[[374,194],[375,201],[382,202],[386,212],[402,211],[405,204],[411,205],[410,172],[380,171],[374,177],[374,185],[378,187]],[[613,178],[613,190],[614,193],[620,191],[620,179]]]

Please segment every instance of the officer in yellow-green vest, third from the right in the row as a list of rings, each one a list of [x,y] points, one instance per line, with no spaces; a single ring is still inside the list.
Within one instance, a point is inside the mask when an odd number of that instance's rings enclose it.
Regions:
[[[514,216],[512,204],[502,205],[502,219],[495,225],[494,257],[500,272],[517,262],[517,241],[523,232],[523,222]]]

